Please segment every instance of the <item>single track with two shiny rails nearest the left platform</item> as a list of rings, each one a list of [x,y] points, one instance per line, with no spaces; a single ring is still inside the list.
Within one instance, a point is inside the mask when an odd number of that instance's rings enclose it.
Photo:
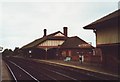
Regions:
[[[14,62],[12,61],[6,61],[6,62],[7,62],[6,66],[8,67],[15,82],[18,82],[20,80],[32,80],[33,82],[40,82],[30,73],[28,73],[25,69],[15,64]]]

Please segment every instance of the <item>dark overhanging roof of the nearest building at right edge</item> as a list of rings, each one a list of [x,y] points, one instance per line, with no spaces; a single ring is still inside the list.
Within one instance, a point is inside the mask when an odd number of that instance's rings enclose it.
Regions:
[[[102,17],[101,19],[96,20],[95,22],[93,22],[93,23],[91,23],[91,24],[89,24],[89,25],[87,25],[83,28],[84,29],[95,29],[96,27],[100,26],[102,22],[106,23],[109,26],[110,26],[110,24],[112,24],[112,25],[115,24],[116,25],[116,23],[118,23],[118,18],[119,17],[120,17],[120,9],[116,10],[113,13],[110,13],[109,15],[107,15],[105,17]]]

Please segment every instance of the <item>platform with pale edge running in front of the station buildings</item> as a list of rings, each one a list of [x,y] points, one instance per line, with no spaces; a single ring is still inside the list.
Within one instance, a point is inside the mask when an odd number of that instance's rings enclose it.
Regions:
[[[91,72],[96,72],[96,73],[101,73],[101,74],[105,74],[105,75],[110,75],[113,77],[119,77],[118,72],[112,72],[108,69],[104,69],[100,66],[96,66],[96,65],[90,65],[88,63],[80,63],[79,61],[64,61],[64,60],[39,60],[39,59],[34,59],[35,61],[39,62],[46,62],[46,63],[51,63],[51,64],[58,64],[58,65],[63,65],[63,66],[69,66],[69,67],[73,67],[73,68],[78,68],[78,69],[83,69],[86,71],[91,71]]]

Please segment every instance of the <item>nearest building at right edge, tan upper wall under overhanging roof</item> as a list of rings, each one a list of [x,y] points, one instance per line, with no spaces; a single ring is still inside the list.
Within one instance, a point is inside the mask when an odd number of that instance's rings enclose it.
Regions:
[[[120,63],[120,9],[83,27],[96,34],[97,48],[102,50],[102,65],[116,70]]]

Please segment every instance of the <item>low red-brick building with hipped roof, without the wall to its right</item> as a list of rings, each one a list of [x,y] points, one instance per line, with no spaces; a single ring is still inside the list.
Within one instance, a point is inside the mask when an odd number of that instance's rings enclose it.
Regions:
[[[77,36],[69,37],[60,46],[61,58],[71,57],[71,60],[79,61],[80,56],[82,61],[90,62],[90,57],[93,56],[94,47]]]

